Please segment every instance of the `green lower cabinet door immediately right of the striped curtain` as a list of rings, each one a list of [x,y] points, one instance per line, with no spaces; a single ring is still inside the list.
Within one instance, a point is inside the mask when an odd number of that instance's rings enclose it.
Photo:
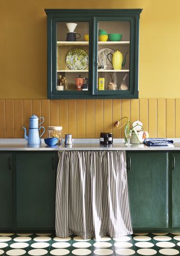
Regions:
[[[133,228],[168,228],[168,153],[129,152],[127,166]]]

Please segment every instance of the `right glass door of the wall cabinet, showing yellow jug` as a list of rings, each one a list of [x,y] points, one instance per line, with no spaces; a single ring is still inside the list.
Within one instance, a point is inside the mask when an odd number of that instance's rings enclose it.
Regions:
[[[134,37],[131,18],[96,18],[94,94],[132,94]]]

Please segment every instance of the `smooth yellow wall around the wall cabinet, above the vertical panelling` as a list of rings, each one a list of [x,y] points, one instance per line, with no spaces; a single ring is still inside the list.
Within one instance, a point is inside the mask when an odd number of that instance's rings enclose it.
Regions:
[[[140,98],[180,98],[179,0],[2,0],[1,99],[47,98],[44,8],[143,8]]]

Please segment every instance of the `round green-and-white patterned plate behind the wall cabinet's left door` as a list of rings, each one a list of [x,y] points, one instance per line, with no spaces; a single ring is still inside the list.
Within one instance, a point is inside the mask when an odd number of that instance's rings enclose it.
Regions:
[[[84,70],[89,62],[89,57],[83,49],[74,48],[66,55],[66,64],[70,70]]]

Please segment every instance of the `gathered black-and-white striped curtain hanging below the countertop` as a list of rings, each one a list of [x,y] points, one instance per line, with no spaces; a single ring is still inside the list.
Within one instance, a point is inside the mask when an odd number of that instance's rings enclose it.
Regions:
[[[60,151],[56,236],[132,233],[125,151]]]

